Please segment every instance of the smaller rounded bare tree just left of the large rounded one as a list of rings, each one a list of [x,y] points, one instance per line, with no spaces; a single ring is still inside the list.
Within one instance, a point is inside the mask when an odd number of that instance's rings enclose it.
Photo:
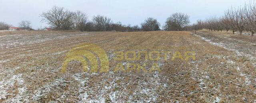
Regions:
[[[147,18],[145,22],[141,24],[143,31],[157,31],[160,30],[160,23],[155,18]]]

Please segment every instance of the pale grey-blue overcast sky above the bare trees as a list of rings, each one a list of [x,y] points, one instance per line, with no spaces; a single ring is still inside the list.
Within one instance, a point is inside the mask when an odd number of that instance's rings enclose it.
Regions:
[[[68,10],[82,10],[91,20],[94,15],[108,16],[113,22],[139,25],[147,17],[153,17],[161,25],[168,16],[182,12],[190,16],[192,23],[198,19],[222,16],[231,6],[244,6],[249,0],[0,0],[0,21],[18,26],[21,20],[29,20],[33,29],[48,26],[40,22],[39,14],[52,6]]]

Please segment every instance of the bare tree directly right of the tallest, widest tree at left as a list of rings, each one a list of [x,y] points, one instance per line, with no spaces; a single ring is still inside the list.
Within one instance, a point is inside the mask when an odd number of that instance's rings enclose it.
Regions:
[[[86,24],[87,18],[86,14],[80,10],[71,12],[70,23],[72,24],[72,28],[78,30],[80,24]]]

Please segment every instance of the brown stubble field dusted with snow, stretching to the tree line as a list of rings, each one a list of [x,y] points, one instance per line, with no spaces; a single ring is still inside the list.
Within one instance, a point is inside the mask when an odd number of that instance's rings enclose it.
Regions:
[[[248,37],[248,38],[247,38]],[[256,39],[224,32],[22,32],[0,34],[1,102],[256,102]],[[76,45],[93,43],[109,59],[106,73],[71,61]],[[162,59],[115,60],[115,51],[169,51]],[[175,58],[194,51],[195,60]],[[129,55],[131,56],[131,55]],[[156,56],[156,55],[154,55]],[[116,65],[158,64],[160,71]]]

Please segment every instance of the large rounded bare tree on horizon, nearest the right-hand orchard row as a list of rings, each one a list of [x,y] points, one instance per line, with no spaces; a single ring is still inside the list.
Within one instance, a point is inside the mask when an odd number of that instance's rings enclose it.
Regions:
[[[167,18],[164,26],[164,30],[170,31],[180,31],[183,30],[185,26],[188,26],[190,23],[189,16],[183,13],[172,14]]]

